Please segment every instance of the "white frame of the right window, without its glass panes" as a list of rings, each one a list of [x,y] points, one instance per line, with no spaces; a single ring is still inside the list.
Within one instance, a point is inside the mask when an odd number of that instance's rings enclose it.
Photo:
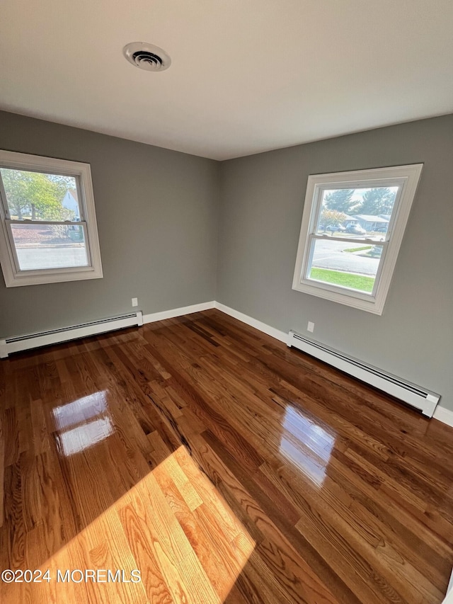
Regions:
[[[374,314],[382,314],[422,168],[423,164],[411,164],[309,176],[292,289]],[[357,239],[353,236],[339,238],[316,234],[324,190],[391,186],[398,186],[398,193],[389,228],[383,234],[384,241]],[[324,238],[328,241],[350,241],[352,244],[357,241],[363,244],[365,241],[365,243],[383,247],[381,262],[371,294],[307,278],[306,275],[309,274],[309,268],[311,268],[314,241]]]

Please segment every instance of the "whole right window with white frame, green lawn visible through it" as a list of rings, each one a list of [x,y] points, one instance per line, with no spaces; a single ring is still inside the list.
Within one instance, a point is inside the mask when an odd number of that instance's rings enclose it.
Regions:
[[[309,176],[292,288],[382,314],[422,166]]]

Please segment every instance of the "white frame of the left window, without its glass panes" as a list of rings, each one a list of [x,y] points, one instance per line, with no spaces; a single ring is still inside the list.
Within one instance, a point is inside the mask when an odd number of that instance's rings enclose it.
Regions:
[[[90,165],[79,161],[0,150],[0,168],[74,176],[81,220],[76,223],[64,221],[55,224],[78,224],[84,229],[88,259],[88,266],[21,270],[16,254],[16,246],[13,242],[11,223],[36,224],[36,222],[11,221],[6,193],[0,176],[0,264],[6,287],[102,278],[101,249],[99,247]]]

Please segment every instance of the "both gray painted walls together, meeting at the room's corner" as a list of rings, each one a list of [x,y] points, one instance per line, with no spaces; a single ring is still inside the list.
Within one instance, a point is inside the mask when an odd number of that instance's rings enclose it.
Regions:
[[[91,164],[104,271],[8,289],[0,278],[0,336],[125,312],[131,297],[145,314],[218,300],[285,332],[314,321],[319,341],[453,410],[453,115],[219,164],[0,112],[0,148]],[[307,176],[418,162],[382,317],[294,292]]]

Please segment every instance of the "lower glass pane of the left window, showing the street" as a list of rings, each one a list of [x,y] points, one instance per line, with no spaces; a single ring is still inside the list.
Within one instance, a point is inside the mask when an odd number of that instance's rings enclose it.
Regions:
[[[11,224],[20,270],[88,266],[84,227]]]

